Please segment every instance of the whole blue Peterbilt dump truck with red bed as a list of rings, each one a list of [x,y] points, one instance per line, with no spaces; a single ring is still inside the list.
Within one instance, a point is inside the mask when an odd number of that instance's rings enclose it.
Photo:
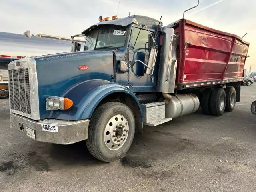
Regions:
[[[12,128],[42,142],[86,140],[94,157],[111,162],[143,125],[200,104],[221,116],[240,101],[249,43],[236,35],[185,19],[163,27],[146,16],[105,18],[82,34],[84,51],[75,43],[76,52],[9,64]]]

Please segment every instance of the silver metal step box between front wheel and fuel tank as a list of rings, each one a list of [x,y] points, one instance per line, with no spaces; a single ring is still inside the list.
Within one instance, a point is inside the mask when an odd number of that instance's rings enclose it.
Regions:
[[[143,124],[157,126],[172,120],[165,118],[165,102],[153,102],[141,104],[143,111]]]

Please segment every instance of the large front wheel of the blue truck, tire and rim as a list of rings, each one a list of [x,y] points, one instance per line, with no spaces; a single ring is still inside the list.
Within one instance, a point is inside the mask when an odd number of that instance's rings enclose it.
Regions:
[[[90,119],[86,144],[97,159],[112,162],[128,151],[135,133],[132,110],[119,102],[108,102],[96,109]]]

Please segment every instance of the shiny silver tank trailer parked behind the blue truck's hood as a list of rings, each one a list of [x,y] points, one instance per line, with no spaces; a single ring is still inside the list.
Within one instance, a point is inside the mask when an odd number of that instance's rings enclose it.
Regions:
[[[83,40],[75,39],[83,43]],[[70,52],[71,38],[45,34],[30,35],[0,32],[0,98],[8,98],[8,64],[23,56],[40,56],[58,52]]]

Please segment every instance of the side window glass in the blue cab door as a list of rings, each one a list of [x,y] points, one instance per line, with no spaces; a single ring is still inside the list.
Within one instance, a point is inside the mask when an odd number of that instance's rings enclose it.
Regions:
[[[153,33],[151,33],[154,36]],[[153,45],[153,40],[147,30],[134,28],[131,48],[132,50],[140,50],[142,52],[149,52],[150,46]]]

